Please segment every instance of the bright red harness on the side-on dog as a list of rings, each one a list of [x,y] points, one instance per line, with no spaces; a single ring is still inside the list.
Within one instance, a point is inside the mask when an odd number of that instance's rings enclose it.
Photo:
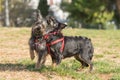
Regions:
[[[44,39],[48,39],[49,38],[49,35],[55,35],[55,34],[57,34],[58,32],[53,32],[53,33],[49,33],[49,34],[47,34],[47,35],[44,35]],[[62,37],[62,38],[60,38],[60,39],[57,39],[57,40],[55,40],[55,41],[52,41],[52,42],[50,42],[50,43],[47,43],[46,44],[46,46],[47,46],[47,48],[48,48],[48,52],[50,53],[50,46],[51,45],[54,45],[54,44],[57,44],[57,43],[59,43],[59,42],[62,42],[62,45],[61,45],[61,48],[60,48],[60,52],[62,53],[63,52],[63,49],[64,49],[64,45],[65,45],[65,43],[64,43],[64,37]]]

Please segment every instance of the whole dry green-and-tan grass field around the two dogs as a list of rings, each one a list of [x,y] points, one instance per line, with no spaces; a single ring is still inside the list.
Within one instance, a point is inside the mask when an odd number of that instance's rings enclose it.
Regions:
[[[81,64],[68,58],[53,68],[51,59],[41,69],[35,69],[30,60],[28,39],[31,28],[0,27],[0,80],[119,80],[120,79],[120,30],[63,30],[67,36],[86,36],[94,45],[94,70],[77,71]],[[70,32],[70,33],[69,33]],[[14,76],[13,76],[14,75]]]

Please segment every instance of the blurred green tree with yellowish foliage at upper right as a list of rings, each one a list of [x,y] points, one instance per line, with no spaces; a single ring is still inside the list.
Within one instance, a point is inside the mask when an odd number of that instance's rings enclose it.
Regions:
[[[64,9],[69,11],[70,19],[82,23],[83,27],[99,28],[96,25],[102,25],[112,20],[113,11],[109,11],[107,6],[108,0],[73,0],[71,4],[64,3]],[[86,26],[89,25],[89,26]]]

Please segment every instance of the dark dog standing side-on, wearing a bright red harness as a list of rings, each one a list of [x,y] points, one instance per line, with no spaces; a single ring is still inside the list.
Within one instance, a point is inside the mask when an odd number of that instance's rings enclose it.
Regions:
[[[63,58],[74,56],[82,64],[82,68],[90,66],[91,72],[94,52],[91,40],[82,36],[63,36],[61,30],[65,28],[65,24],[59,23],[51,17],[47,21],[49,26],[54,27],[54,30],[44,35],[52,62],[60,64]]]

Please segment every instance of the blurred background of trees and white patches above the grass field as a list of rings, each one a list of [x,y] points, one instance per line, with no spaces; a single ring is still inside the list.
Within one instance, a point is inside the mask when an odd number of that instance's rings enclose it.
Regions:
[[[37,9],[72,28],[120,29],[120,0],[0,0],[0,27],[31,27]]]

